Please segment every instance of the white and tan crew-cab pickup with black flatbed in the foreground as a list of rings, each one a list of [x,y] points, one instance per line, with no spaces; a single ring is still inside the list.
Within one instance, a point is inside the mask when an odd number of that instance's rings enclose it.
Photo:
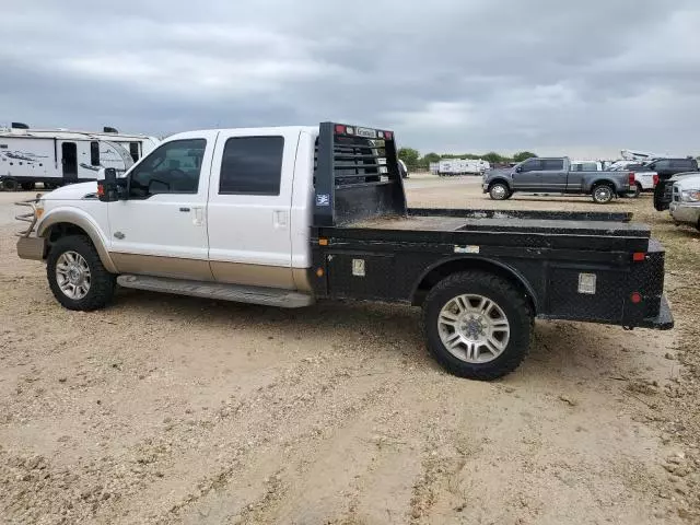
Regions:
[[[46,262],[70,310],[105,306],[116,284],[282,307],[422,306],[432,354],[477,380],[518,365],[536,317],[673,327],[649,226],[629,213],[407,208],[386,130],[179,133],[124,178],[107,170],[24,205],[19,256]]]

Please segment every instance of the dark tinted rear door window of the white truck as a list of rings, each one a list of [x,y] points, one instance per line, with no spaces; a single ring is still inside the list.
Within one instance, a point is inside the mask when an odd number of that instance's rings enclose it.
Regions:
[[[283,137],[233,137],[221,161],[219,194],[280,195]]]

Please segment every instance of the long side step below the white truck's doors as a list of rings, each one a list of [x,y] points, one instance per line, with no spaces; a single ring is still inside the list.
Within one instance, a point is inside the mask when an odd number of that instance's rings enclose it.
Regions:
[[[149,292],[176,293],[192,298],[219,299],[238,303],[280,306],[282,308],[301,308],[314,304],[312,295],[275,288],[241,287],[219,282],[185,281],[165,277],[130,275],[117,277],[117,283],[124,288],[135,288]]]

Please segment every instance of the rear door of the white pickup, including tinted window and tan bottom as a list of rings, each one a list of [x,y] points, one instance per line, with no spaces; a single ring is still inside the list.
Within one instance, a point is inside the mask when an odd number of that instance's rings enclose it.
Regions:
[[[214,279],[294,289],[290,214],[300,131],[222,131],[209,187],[209,260]]]

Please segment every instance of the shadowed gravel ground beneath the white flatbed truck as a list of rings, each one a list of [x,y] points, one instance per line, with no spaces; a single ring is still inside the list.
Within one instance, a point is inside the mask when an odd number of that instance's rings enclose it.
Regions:
[[[120,290],[114,310],[151,323],[196,324],[205,329],[226,330],[235,323],[250,331],[275,330],[281,337],[303,339],[311,332],[328,334],[366,354],[373,348],[400,352],[416,366],[442,371],[430,357],[420,329],[418,307],[382,303],[328,302],[284,310],[254,304]],[[110,308],[112,310],[112,308]],[[643,363],[634,362],[632,349],[644,343],[646,330],[570,322],[537,322],[530,351],[523,365],[504,381],[532,382],[546,377],[597,380],[606,375],[634,375]]]

